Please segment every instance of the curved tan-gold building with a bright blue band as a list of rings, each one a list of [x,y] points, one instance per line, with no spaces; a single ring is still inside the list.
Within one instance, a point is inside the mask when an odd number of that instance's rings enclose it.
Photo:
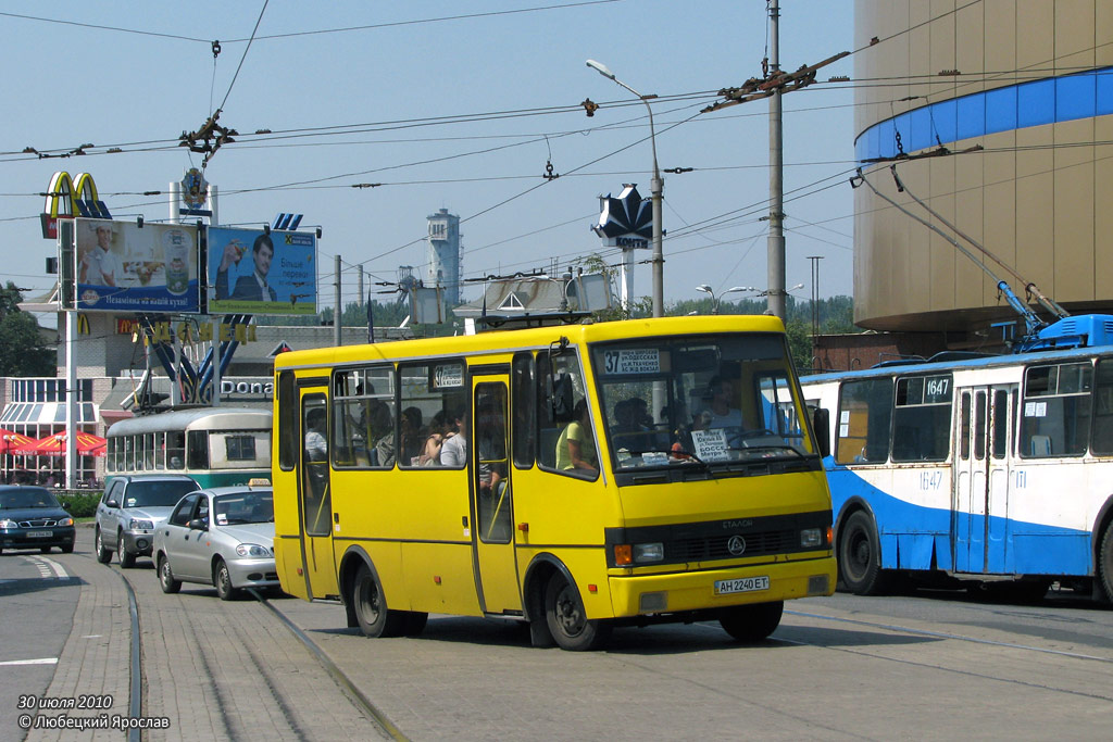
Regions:
[[[1110,311],[1113,2],[857,0],[855,49],[869,185],[949,234],[912,196],[925,201],[1070,311]],[[866,185],[855,214],[860,326],[963,334],[1016,317],[993,277]]]

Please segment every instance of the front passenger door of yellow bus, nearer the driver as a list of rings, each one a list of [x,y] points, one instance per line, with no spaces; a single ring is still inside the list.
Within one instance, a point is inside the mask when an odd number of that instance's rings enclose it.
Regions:
[[[485,613],[522,610],[514,554],[512,467],[506,453],[508,385],[506,376],[483,376],[476,377],[472,389],[472,531]]]

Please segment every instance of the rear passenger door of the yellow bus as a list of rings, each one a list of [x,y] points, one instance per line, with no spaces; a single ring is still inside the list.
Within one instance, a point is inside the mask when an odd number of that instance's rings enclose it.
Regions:
[[[328,469],[328,405],[322,392],[302,395],[298,516],[308,597],[338,595],[333,555],[333,497]]]

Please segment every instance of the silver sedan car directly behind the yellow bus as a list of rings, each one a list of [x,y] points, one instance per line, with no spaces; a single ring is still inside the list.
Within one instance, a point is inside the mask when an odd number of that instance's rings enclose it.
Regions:
[[[191,582],[213,585],[220,600],[230,601],[243,587],[277,587],[274,538],[269,483],[190,493],[155,532],[162,592]]]

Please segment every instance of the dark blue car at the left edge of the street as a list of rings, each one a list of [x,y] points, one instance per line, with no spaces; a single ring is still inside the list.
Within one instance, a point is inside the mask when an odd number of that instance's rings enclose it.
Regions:
[[[45,487],[0,486],[0,552],[57,546],[73,552],[73,518]]]

